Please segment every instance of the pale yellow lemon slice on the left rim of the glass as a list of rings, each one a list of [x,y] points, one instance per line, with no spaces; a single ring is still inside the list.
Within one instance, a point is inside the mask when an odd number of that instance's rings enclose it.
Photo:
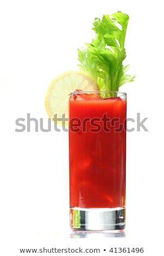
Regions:
[[[69,94],[75,89],[98,90],[98,86],[89,75],[81,71],[67,71],[59,75],[51,82],[46,93],[45,107],[49,118],[54,120],[55,116],[58,124],[62,124],[63,118],[68,118]]]

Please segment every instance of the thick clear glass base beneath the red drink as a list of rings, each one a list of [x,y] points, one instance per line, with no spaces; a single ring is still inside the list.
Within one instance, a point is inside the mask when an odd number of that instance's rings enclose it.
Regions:
[[[123,230],[125,208],[77,208],[70,206],[73,230]]]

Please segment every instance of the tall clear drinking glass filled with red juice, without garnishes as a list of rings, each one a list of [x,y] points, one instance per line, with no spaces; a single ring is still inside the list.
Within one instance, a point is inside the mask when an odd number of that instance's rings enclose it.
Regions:
[[[71,229],[125,228],[126,115],[125,93],[70,94]]]

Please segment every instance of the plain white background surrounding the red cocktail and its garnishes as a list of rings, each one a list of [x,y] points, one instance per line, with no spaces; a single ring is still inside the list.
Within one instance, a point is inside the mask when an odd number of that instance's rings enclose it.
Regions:
[[[142,255],[163,255],[162,9],[160,0],[0,1],[2,255],[44,246],[144,247]],[[136,74],[135,82],[120,90],[128,94],[128,117],[148,117],[149,131],[127,133],[126,237],[71,239],[68,133],[53,126],[51,132],[35,132],[34,124],[30,132],[15,132],[15,120],[27,120],[30,113],[43,118],[46,129],[49,83],[77,69],[77,48],[91,41],[94,17],[117,10],[130,16],[125,62]]]

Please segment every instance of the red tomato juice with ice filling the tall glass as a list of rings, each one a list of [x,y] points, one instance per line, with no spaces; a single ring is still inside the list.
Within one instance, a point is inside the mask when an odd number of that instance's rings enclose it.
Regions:
[[[70,205],[125,206],[126,100],[70,98]]]

